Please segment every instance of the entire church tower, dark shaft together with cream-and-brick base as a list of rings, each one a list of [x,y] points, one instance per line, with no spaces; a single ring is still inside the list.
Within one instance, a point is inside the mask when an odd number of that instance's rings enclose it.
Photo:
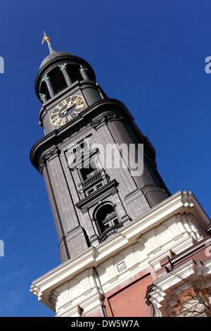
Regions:
[[[123,293],[122,284],[127,289],[133,285],[129,292],[125,288],[129,298],[143,279],[139,302],[144,301],[160,259],[190,246],[205,230],[196,216],[181,213],[179,201],[188,208],[190,194],[170,194],[158,173],[155,150],[127,107],[106,96],[87,61],[55,51],[49,37],[44,39],[50,54],[35,80],[44,137],[32,147],[30,160],[44,177],[61,265],[55,275],[35,281],[31,291],[57,316],[131,316],[120,313],[126,311],[120,308],[122,294],[116,296]],[[195,230],[184,230],[185,222]],[[160,237],[168,242],[165,249]],[[139,316],[140,309],[147,316],[145,305],[134,306],[132,316]]]

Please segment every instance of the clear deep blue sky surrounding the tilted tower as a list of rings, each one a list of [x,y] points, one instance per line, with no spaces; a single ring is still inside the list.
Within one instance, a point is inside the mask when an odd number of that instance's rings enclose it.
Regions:
[[[44,180],[30,163],[43,137],[34,80],[49,54],[44,30],[127,106],[170,192],[192,191],[210,216],[210,11],[207,0],[1,1],[0,316],[55,315],[30,293],[60,264]]]

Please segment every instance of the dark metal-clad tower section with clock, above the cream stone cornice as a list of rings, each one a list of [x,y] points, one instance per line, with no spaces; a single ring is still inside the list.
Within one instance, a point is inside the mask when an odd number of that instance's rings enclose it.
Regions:
[[[170,192],[156,168],[153,146],[126,106],[108,99],[87,61],[54,51],[49,37],[46,41],[50,54],[35,80],[45,137],[34,144],[30,158],[46,183],[64,262],[115,235]],[[122,166],[127,160],[120,147],[129,151],[139,144],[143,172],[132,175],[132,162]],[[108,166],[112,152],[120,167]]]

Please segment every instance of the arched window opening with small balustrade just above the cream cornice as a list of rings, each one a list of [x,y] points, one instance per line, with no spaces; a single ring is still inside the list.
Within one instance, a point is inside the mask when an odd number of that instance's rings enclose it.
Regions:
[[[96,225],[98,227],[99,242],[103,242],[110,235],[117,232],[117,229],[122,226],[119,223],[117,214],[112,204],[103,204],[95,213],[94,219],[96,220]]]

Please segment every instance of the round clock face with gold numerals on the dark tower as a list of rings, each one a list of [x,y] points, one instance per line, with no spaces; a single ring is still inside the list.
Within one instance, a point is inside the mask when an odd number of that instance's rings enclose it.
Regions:
[[[68,96],[60,101],[51,113],[51,123],[53,125],[64,125],[75,118],[84,108],[84,98],[80,95]]]

